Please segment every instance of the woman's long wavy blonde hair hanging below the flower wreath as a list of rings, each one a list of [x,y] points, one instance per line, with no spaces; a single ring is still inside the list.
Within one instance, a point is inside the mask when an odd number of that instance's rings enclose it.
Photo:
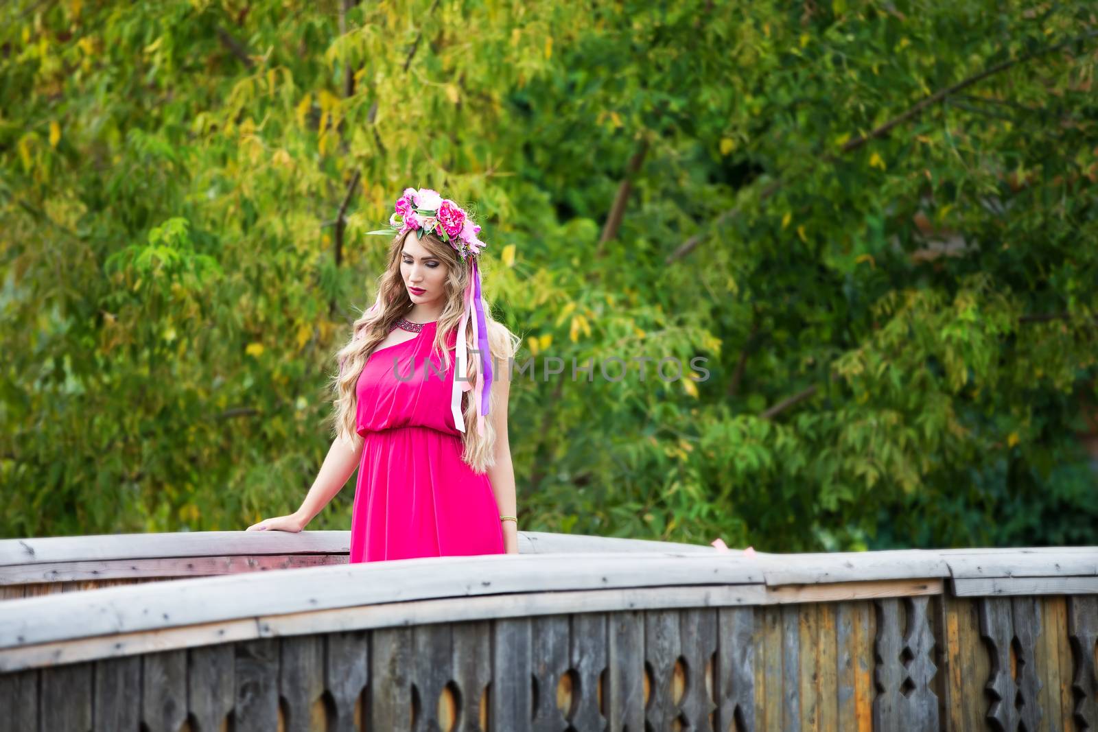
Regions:
[[[407,233],[394,237],[390,245],[389,264],[378,278],[379,306],[362,313],[355,320],[350,339],[336,352],[340,369],[339,373],[332,380],[334,393],[333,437],[345,440],[356,450],[362,442],[355,424],[358,378],[373,349],[385,339],[396,319],[407,315],[413,305],[401,274],[401,252],[404,248],[405,236]],[[461,320],[466,286],[469,284],[472,272],[469,262],[461,261],[453,247],[439,239],[434,233],[421,238],[419,244],[439,261],[446,263],[446,305],[442,307],[435,327],[434,349],[436,353],[441,354],[445,368],[448,370],[453,359],[451,350],[446,347],[446,338],[450,331],[457,329]],[[483,261],[479,261],[478,267],[483,279]],[[483,296],[483,291],[481,294]],[[493,376],[495,380],[506,379],[508,360],[518,350],[519,339],[505,325],[492,318],[492,311],[486,302],[484,303],[484,318],[488,323],[489,350],[493,359]],[[466,340],[469,348],[477,347],[472,342],[472,328],[469,329],[469,336]],[[471,382],[475,379],[480,363],[479,359],[471,357],[467,359],[467,362],[468,378]],[[492,392],[489,396],[489,417],[495,413],[497,402],[494,390]],[[478,473],[483,473],[495,464],[495,429],[492,427],[492,420],[486,419],[484,435],[478,433],[475,420],[480,418],[477,414],[479,405],[475,404],[475,399],[470,397],[471,394],[472,392],[469,391],[462,395],[462,416],[466,431],[462,437],[461,459]],[[449,404],[440,404],[438,408],[449,410]]]

